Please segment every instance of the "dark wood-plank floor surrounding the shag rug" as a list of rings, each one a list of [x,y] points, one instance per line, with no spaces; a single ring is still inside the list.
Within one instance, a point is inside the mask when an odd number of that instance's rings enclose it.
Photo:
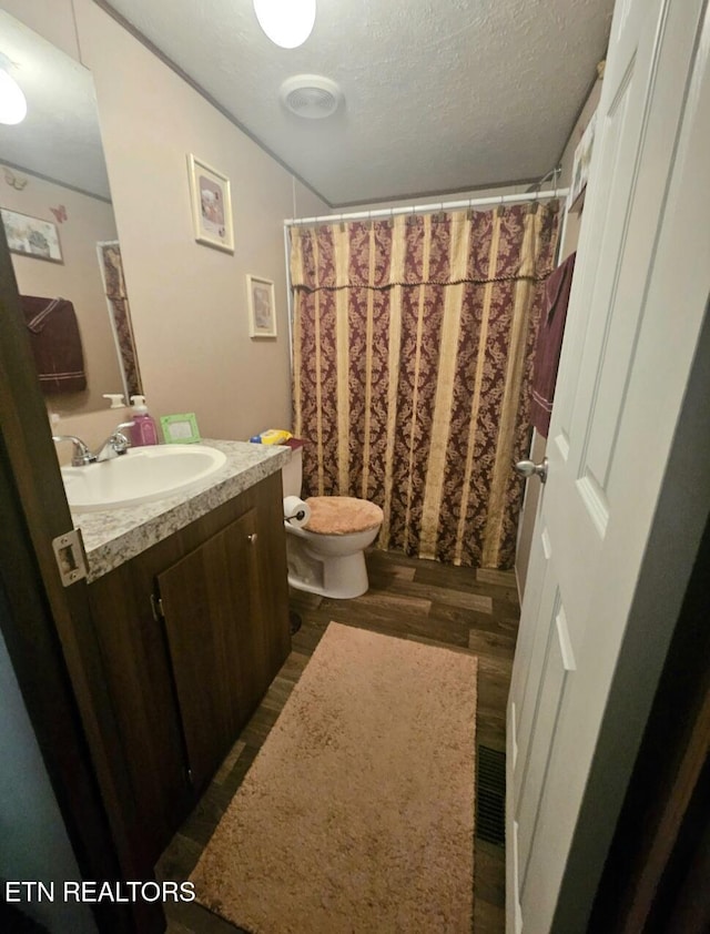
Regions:
[[[161,857],[160,879],[182,882],[192,872],[331,620],[477,654],[477,743],[505,752],[506,702],[519,613],[513,571],[445,567],[384,551],[372,551],[367,566],[369,590],[354,600],[292,591],[291,608],[302,619],[292,652]],[[474,893],[475,934],[504,932],[505,852],[478,837]],[[239,930],[196,903],[166,904],[165,912],[170,934],[233,934]]]

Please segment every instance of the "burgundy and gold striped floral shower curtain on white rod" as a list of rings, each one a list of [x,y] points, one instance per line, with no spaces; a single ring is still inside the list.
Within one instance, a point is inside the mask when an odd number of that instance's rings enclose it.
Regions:
[[[534,202],[292,229],[305,493],[377,502],[381,548],[513,566],[557,220]]]

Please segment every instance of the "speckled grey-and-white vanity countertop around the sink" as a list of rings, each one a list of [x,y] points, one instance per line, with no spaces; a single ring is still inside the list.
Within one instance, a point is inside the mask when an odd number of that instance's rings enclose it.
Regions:
[[[286,446],[219,440],[201,444],[224,451],[227,460],[200,486],[122,509],[72,511],[74,527],[81,529],[84,541],[89,582],[281,470],[291,457]]]

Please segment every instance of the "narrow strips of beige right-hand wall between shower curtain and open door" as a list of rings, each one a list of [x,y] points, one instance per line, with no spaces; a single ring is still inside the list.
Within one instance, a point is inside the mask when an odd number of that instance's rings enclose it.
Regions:
[[[569,138],[562,158],[560,160],[560,187],[567,187],[572,176],[572,163],[575,160],[575,150],[582,138],[582,134],[589,123],[589,120],[599,104],[599,97],[601,94],[601,80],[597,80],[587,98],[581,113],[575,124],[575,129]],[[584,212],[582,212],[584,213]],[[579,241],[579,229],[581,225],[581,213],[569,212],[564,230],[564,238],[560,243],[559,258],[560,261],[569,256],[577,248]],[[530,459],[539,464],[545,457],[546,439],[534,432],[532,443],[530,448]],[[525,502],[523,512],[520,514],[520,522],[518,525],[518,549],[516,552],[515,570],[518,579],[518,591],[520,597],[525,590],[525,581],[528,572],[528,564],[530,560],[530,549],[532,547],[532,531],[535,529],[535,520],[537,518],[537,510],[540,504],[541,486],[537,478],[528,480],[525,491]]]

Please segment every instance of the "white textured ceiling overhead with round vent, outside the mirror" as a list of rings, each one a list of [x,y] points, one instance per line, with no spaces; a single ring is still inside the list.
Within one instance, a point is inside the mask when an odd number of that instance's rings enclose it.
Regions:
[[[554,167],[604,58],[613,0],[317,0],[300,49],[251,0],[100,0],[332,205],[530,180]],[[294,74],[345,95],[326,120]]]

